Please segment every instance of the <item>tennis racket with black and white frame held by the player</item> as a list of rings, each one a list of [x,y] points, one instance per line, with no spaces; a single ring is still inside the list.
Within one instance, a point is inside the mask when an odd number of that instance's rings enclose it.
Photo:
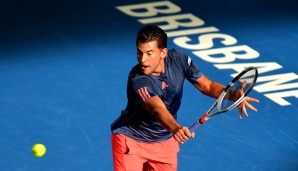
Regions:
[[[238,106],[254,87],[258,77],[258,70],[255,67],[248,67],[239,73],[226,86],[221,95],[217,98],[212,107],[192,126],[190,132],[194,132],[199,126],[208,119],[232,110]]]

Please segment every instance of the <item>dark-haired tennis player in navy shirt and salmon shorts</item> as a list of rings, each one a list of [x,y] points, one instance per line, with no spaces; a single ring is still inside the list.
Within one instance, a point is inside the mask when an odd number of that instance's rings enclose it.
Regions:
[[[195,136],[177,122],[183,83],[187,79],[203,94],[217,98],[224,86],[209,80],[190,57],[167,49],[167,35],[159,27],[145,26],[136,39],[137,60],[129,73],[128,103],[111,125],[114,170],[177,170],[179,143]],[[246,100],[238,107],[257,111]]]

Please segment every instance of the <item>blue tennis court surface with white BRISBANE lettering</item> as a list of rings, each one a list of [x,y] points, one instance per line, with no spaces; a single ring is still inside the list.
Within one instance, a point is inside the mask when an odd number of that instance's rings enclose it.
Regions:
[[[147,3],[147,4],[144,4]],[[179,171],[298,170],[296,0],[0,2],[0,170],[113,170],[110,124],[126,105],[135,36],[163,27],[210,79],[259,68],[257,113],[219,115],[181,145]],[[188,82],[178,120],[214,99]],[[31,147],[43,143],[42,158]]]

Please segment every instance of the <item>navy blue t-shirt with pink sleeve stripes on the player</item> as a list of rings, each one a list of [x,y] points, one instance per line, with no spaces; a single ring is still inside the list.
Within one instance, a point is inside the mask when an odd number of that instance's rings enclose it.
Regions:
[[[160,142],[172,136],[143,108],[144,101],[153,96],[160,97],[177,119],[185,78],[193,82],[202,73],[191,58],[179,50],[169,50],[164,60],[165,72],[160,76],[144,75],[139,65],[132,68],[127,83],[128,103],[119,118],[112,123],[112,133],[124,134],[141,142]]]

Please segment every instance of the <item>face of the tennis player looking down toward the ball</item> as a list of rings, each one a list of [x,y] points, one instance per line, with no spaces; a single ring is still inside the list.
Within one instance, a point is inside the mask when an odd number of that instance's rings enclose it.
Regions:
[[[137,46],[137,59],[143,74],[158,76],[164,73],[164,58],[167,52],[166,48],[158,48],[157,41],[139,43]]]

